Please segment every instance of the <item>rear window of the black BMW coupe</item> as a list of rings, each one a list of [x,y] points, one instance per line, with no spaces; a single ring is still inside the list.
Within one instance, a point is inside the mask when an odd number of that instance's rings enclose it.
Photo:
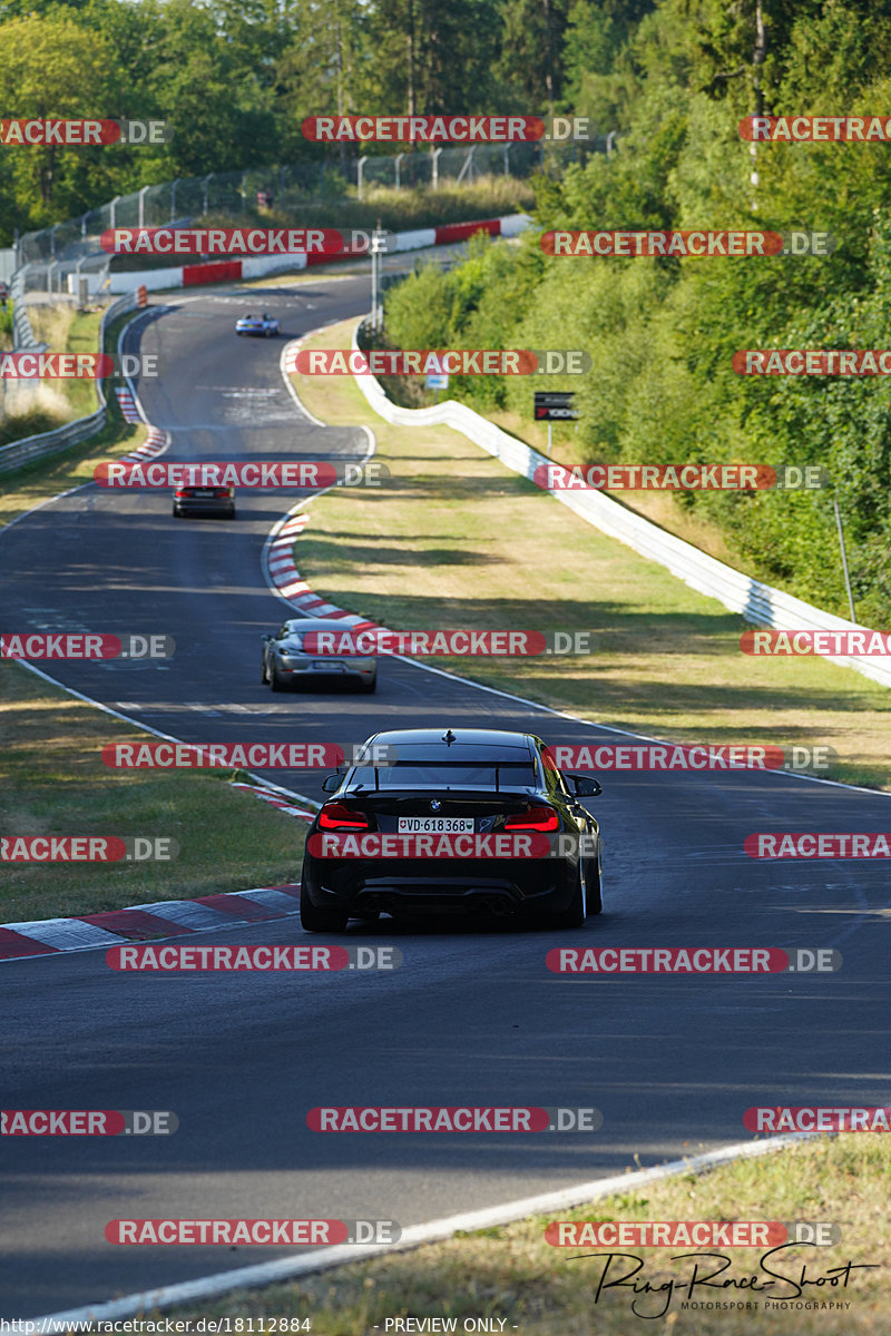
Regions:
[[[525,749],[496,747],[398,745],[395,762],[377,767],[357,766],[350,786],[363,788],[534,788],[534,760]]]

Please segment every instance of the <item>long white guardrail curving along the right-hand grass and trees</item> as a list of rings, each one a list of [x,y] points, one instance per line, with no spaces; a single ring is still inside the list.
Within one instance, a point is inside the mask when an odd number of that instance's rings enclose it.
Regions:
[[[353,334],[353,347],[358,350],[359,326]],[[456,399],[446,399],[429,409],[403,409],[393,403],[381,389],[373,375],[357,375],[355,381],[362,390],[369,405],[386,422],[397,426],[450,426],[461,432],[476,445],[480,445],[489,454],[514,473],[533,480],[533,474],[541,465],[552,462],[544,454],[538,454],[532,446],[508,436],[493,422],[480,417],[473,409]],[[613,501],[602,492],[564,492],[550,493],[556,501],[568,506],[592,524],[601,533],[610,538],[617,538],[627,546],[633,548],[641,557],[659,562],[673,576],[683,580],[691,589],[704,593],[709,599],[717,599],[731,612],[739,612],[745,621],[756,627],[773,627],[779,631],[863,631],[856,621],[846,621],[844,617],[835,617],[831,612],[793,599],[792,595],[783,593],[772,585],[761,584],[741,570],[724,565],[705,552],[700,552],[691,542],[676,538],[665,533],[657,525],[644,520],[643,516],[628,510]],[[832,657],[832,663],[855,668],[864,677],[891,687],[891,656],[875,655],[868,659]]]

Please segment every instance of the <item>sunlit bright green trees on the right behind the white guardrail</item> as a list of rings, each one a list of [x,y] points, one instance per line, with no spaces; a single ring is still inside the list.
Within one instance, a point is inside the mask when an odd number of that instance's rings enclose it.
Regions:
[[[828,258],[546,258],[480,244],[387,301],[402,347],[580,347],[585,457],[604,462],[820,464],[832,492],[688,493],[736,564],[848,616],[832,496],[856,616],[891,624],[891,393],[884,377],[740,377],[739,349],[891,347],[891,143],[752,144],[741,118],[887,115],[891,5],[664,0],[586,5],[568,25],[562,91],[622,134],[561,179],[540,178],[540,228],[803,228]],[[755,180],[753,180],[755,171]],[[450,393],[530,414],[522,378]]]

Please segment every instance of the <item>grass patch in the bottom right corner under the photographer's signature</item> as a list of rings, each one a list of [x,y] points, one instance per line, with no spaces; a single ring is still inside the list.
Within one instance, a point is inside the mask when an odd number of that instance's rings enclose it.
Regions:
[[[752,1332],[883,1336],[888,1329],[884,1276],[891,1264],[891,1237],[886,1228],[890,1186],[891,1164],[880,1133],[822,1138],[755,1161],[736,1161],[708,1174],[680,1174],[586,1208],[561,1212],[557,1217],[533,1216],[413,1252],[357,1261],[299,1281],[262,1291],[235,1291],[218,1301],[203,1301],[200,1308],[190,1304],[166,1311],[166,1316],[309,1319],[314,1336],[423,1331],[418,1320],[430,1317],[454,1319],[453,1329],[458,1332],[474,1329],[465,1328],[468,1320],[488,1319],[492,1325],[480,1329],[516,1331],[521,1336],[589,1336],[592,1332],[628,1336],[647,1329],[671,1332],[671,1336],[751,1336]],[[608,1249],[552,1246],[544,1237],[552,1218],[822,1221],[840,1226],[842,1242],[822,1248],[795,1246],[767,1260],[775,1271],[796,1279],[801,1268],[807,1268],[806,1279],[811,1285],[797,1300],[792,1297],[795,1285],[780,1283],[772,1292],[700,1287],[692,1296],[700,1307],[683,1308],[691,1296],[676,1289],[665,1308],[665,1292],[636,1296],[631,1288],[614,1288],[597,1297],[597,1281],[605,1265],[602,1257],[570,1259]],[[693,1273],[692,1260],[672,1261],[672,1256],[696,1249],[627,1250],[644,1260],[639,1284],[648,1280],[656,1287],[673,1279],[680,1287]],[[768,1276],[759,1276],[763,1249],[720,1246],[713,1250],[731,1260],[724,1280],[733,1277],[743,1287],[752,1276],[761,1284],[771,1281]],[[827,1273],[846,1267],[850,1260],[878,1269],[852,1271],[847,1288],[840,1281],[832,1285]],[[711,1259],[700,1260],[700,1277],[717,1265]],[[633,1263],[614,1263],[610,1279],[616,1277],[617,1267],[631,1269]],[[820,1277],[824,1277],[822,1284]],[[764,1307],[765,1300],[781,1304],[784,1296],[787,1307]],[[636,1316],[632,1312],[635,1301],[640,1315],[664,1309],[664,1316],[655,1323]],[[820,1307],[830,1301],[850,1307]],[[719,1307],[731,1303],[752,1307]],[[799,1303],[801,1308],[795,1307]],[[806,1303],[818,1307],[808,1308]],[[405,1325],[409,1317],[415,1323]],[[393,1324],[397,1319],[403,1320],[401,1328],[387,1327],[387,1320]],[[439,1324],[426,1329],[449,1328]]]

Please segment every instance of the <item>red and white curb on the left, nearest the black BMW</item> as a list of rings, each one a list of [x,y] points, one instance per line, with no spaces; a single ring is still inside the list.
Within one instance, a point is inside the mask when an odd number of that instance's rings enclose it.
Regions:
[[[126,910],[81,914],[76,918],[40,919],[33,923],[0,926],[0,961],[21,961],[31,955],[57,955],[60,951],[87,951],[119,946],[122,942],[148,942],[180,933],[210,933],[239,923],[264,923],[299,912],[298,882],[260,886],[251,891],[199,895],[195,900],[158,900]]]

